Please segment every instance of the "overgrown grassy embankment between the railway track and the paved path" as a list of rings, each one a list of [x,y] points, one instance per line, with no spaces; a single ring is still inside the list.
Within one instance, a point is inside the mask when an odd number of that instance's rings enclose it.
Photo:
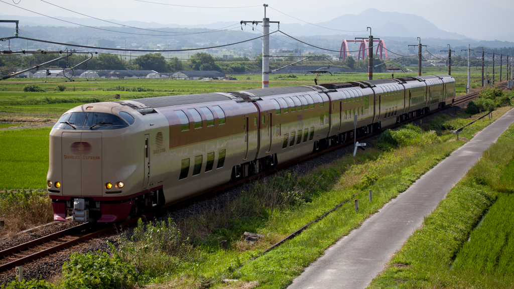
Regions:
[[[505,107],[500,109],[494,117],[498,118],[505,111]],[[133,285],[285,287],[326,247],[463,145],[462,139],[471,139],[491,122],[487,118],[477,121],[460,135],[460,141],[443,142],[449,137],[445,128],[460,127],[468,121],[467,115],[461,115],[454,120],[441,117],[424,124],[426,129],[439,130],[440,136],[421,132],[410,125],[384,134],[376,146],[385,151],[373,149],[359,153],[357,158],[347,156],[306,176],[276,176],[269,184],[254,186],[224,208],[213,209],[178,224],[146,227],[140,224],[135,238],[121,240],[118,248],[113,247],[112,261],[135,265],[141,272],[139,277],[134,279],[131,272],[119,272],[116,268],[103,273],[128,278]],[[372,189],[375,194],[373,203],[365,201],[366,192],[355,197],[360,201],[359,213],[354,212],[353,204],[346,204],[278,249],[249,261],[270,244],[361,189]],[[248,244],[241,240],[243,231],[259,232],[265,238]],[[228,241],[227,248],[222,248],[221,240]],[[90,262],[89,259],[75,256],[72,262],[82,264]],[[87,264],[87,267],[91,266]],[[89,277],[87,274],[81,270],[70,273],[70,267],[65,266],[60,279],[63,283],[56,285],[67,287],[65,284],[70,284],[69,280],[74,278],[95,279],[97,273]],[[226,284],[225,278],[239,281]]]

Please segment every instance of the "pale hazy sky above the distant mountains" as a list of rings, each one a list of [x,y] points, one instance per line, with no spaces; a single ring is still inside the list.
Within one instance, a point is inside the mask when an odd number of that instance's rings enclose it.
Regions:
[[[41,0],[0,0],[0,14],[40,16],[18,8],[21,7],[49,16],[85,17],[51,5],[55,4],[104,20],[137,20],[161,24],[193,25],[260,20],[264,16],[263,3],[266,3],[269,5],[266,14],[270,20],[305,24],[305,22],[325,22],[344,14],[359,14],[368,8],[376,8],[380,11],[423,16],[440,29],[464,34],[475,39],[487,39],[496,35],[512,33],[510,20],[514,15],[514,1],[512,0],[488,0],[487,2],[483,0],[45,1],[46,3]],[[191,5],[195,8],[173,5]]]

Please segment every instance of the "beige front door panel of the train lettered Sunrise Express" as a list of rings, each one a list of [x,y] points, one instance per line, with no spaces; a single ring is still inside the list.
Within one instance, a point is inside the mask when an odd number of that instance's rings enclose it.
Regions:
[[[101,196],[102,133],[63,132],[61,141],[63,195]]]

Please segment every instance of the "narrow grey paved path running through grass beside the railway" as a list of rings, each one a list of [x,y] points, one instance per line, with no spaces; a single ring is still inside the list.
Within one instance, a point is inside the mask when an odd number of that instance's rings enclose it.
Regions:
[[[514,122],[514,110],[490,124],[383,206],[362,226],[325,250],[289,289],[365,288],[384,269],[450,189]]]

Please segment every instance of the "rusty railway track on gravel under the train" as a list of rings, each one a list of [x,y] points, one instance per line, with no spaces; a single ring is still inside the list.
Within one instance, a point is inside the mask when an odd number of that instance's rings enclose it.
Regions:
[[[505,86],[505,84],[502,84],[500,86]],[[469,101],[469,100],[477,97],[478,95],[479,95],[479,93],[472,93],[472,94],[465,95],[464,97],[455,100],[454,103],[452,103],[451,105],[445,106],[442,110],[445,110],[445,109],[448,109],[449,107],[453,107],[457,104],[461,104],[463,102]],[[424,118],[426,116],[429,116],[429,115],[431,115],[435,112],[439,112],[439,111],[440,110],[437,110],[437,111],[430,112],[425,115],[418,116],[416,118],[412,118],[408,122],[416,121],[418,119]],[[398,127],[405,123],[406,122],[396,124],[394,127]],[[370,136],[380,134],[382,131],[383,130],[377,131],[372,134],[364,135],[362,137],[357,138],[357,140],[362,140],[362,139],[368,138]],[[285,169],[287,167],[297,164],[298,162],[302,162],[302,161],[305,161],[310,158],[315,158],[322,154],[326,154],[328,152],[340,149],[344,146],[352,145],[353,141],[354,140],[352,139],[350,141],[340,143],[337,146],[333,146],[333,147],[323,150],[321,152],[314,153],[314,154],[308,155],[306,157],[303,157],[301,159],[279,165],[276,168],[274,168],[273,170],[262,172],[260,174],[253,175],[251,177],[248,177],[248,178],[245,178],[242,180],[238,180],[237,182],[234,182],[234,183],[231,183],[228,185],[224,185],[222,187],[218,187],[218,188],[211,190],[210,192],[203,194],[199,197],[205,197],[206,195],[212,195],[212,194],[224,191],[224,190],[232,188],[234,186],[246,183],[249,180],[257,179],[257,178],[263,177],[265,175],[271,174],[273,172],[276,172],[277,170]],[[106,233],[109,233],[112,231],[116,231],[116,230],[119,231],[121,228],[130,226],[131,224],[137,222],[137,220],[140,218],[150,219],[153,216],[156,216],[162,212],[183,206],[188,203],[192,203],[195,200],[197,200],[199,197],[192,198],[185,202],[172,204],[170,206],[163,207],[158,211],[155,211],[155,212],[152,212],[149,214],[144,214],[144,215],[138,216],[138,218],[134,218],[132,220],[128,220],[128,221],[118,223],[115,225],[103,224],[103,223],[84,223],[84,224],[80,224],[80,225],[72,227],[72,228],[68,228],[68,229],[65,229],[65,230],[62,230],[62,231],[59,231],[56,233],[49,234],[49,235],[39,238],[39,239],[29,241],[27,243],[23,243],[23,244],[2,250],[2,251],[0,251],[0,272],[5,272],[9,269],[14,268],[15,266],[29,263],[31,261],[42,258],[44,256],[50,255],[54,252],[58,252],[58,251],[66,249],[66,248],[69,248],[71,246],[77,245],[81,242],[96,238],[103,234],[106,234]],[[284,242],[287,239],[292,238],[293,236],[296,236],[296,233],[293,233],[290,236],[288,236],[287,238],[285,238],[284,240],[281,240],[277,244],[274,244],[272,247],[268,248],[266,251],[272,249],[273,247],[279,246],[282,242]]]

